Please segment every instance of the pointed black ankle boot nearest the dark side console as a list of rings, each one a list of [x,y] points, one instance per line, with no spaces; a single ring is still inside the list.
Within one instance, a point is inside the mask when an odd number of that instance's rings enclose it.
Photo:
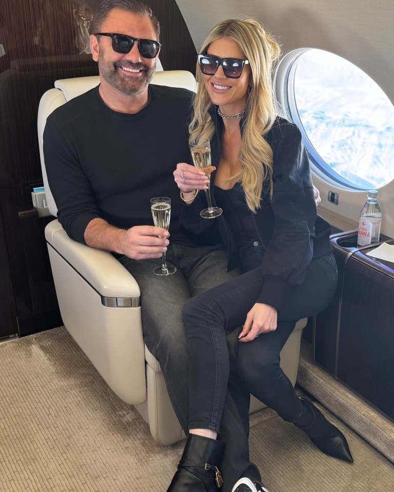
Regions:
[[[293,424],[300,427],[312,443],[326,455],[353,463],[349,445],[342,432],[336,426],[328,422],[319,408],[316,408],[303,398],[300,398],[300,400],[303,408],[301,414],[293,421]],[[313,420],[308,425],[304,424],[303,411],[304,414],[308,413],[313,415]]]

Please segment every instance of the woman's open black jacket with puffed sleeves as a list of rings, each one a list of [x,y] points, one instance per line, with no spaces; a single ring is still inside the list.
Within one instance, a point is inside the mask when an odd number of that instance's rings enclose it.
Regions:
[[[211,139],[212,165],[218,168],[223,120],[214,107],[210,114],[216,127]],[[297,126],[278,118],[266,140],[273,150],[272,199],[265,191],[261,208],[257,213],[250,213],[264,248],[261,268],[265,281],[257,302],[279,309],[289,291],[304,281],[312,258],[331,251],[330,225],[317,215],[309,160]],[[213,202],[214,174],[211,174]],[[200,192],[191,205],[183,208],[181,223],[191,232],[205,235],[207,241],[219,232],[228,250],[228,269],[235,268],[239,266],[239,256],[225,217],[200,217],[200,210],[207,206],[204,195]]]

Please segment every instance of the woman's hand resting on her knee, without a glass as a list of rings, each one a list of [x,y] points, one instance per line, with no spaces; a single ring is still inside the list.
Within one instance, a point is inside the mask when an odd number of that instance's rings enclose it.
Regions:
[[[277,329],[278,311],[269,304],[257,302],[247,314],[245,324],[242,327],[240,342],[251,342],[260,333],[267,333]]]

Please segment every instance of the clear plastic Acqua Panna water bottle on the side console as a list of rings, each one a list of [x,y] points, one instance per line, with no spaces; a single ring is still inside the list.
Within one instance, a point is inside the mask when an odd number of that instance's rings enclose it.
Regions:
[[[381,224],[382,211],[378,203],[378,192],[369,190],[368,199],[360,213],[357,246],[367,246],[379,242]]]

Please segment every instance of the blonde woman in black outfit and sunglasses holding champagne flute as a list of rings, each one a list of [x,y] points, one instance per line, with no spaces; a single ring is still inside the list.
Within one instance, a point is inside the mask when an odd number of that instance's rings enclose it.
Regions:
[[[275,108],[279,46],[256,21],[230,19],[213,28],[201,53],[190,140],[211,141],[213,201],[223,216],[200,218],[199,190],[207,183],[199,170],[180,163],[174,178],[186,204],[184,225],[200,234],[219,228],[229,268],[240,263],[245,273],[184,306],[190,434],[171,492],[216,489],[222,443],[215,439],[229,371],[225,333],[241,325],[239,372],[250,393],[327,455],[352,462],[341,431],[297,397],[279,365],[295,322],[321,311],[337,284],[330,228],[317,216],[300,131]],[[264,488],[246,477],[233,490]]]

